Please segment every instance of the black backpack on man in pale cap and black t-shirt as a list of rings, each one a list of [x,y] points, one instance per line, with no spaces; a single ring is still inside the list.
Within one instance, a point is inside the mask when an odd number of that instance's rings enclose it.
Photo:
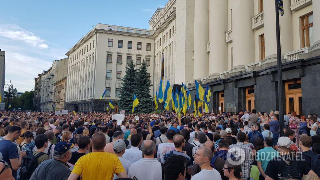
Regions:
[[[279,161],[279,163],[283,166],[283,171],[282,171],[282,178],[283,179],[298,179],[301,180],[301,172],[298,168],[298,162],[297,161],[292,161],[291,164],[290,162],[288,163],[286,160],[283,159],[283,157],[279,156],[282,161]]]

